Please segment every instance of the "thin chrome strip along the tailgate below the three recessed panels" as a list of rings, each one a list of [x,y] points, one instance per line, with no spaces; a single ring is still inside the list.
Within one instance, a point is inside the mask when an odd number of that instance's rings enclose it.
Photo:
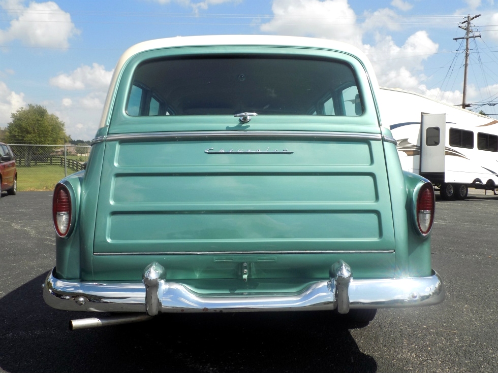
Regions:
[[[317,251],[158,251],[94,253],[94,255],[260,255],[260,254],[392,254],[394,250],[317,250]]]

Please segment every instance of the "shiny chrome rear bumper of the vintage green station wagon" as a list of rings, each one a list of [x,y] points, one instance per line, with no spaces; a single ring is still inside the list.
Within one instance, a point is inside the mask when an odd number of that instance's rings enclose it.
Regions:
[[[343,261],[330,268],[328,281],[317,281],[299,293],[198,294],[161,279],[163,267],[151,263],[142,282],[89,283],[47,276],[43,298],[67,311],[138,312],[150,316],[166,312],[247,312],[404,308],[438,304],[444,300],[441,277],[354,279]]]

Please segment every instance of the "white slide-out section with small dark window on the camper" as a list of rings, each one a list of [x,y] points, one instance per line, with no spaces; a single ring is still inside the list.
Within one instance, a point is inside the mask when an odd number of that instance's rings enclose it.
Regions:
[[[444,183],[446,114],[422,113],[420,129],[420,175]]]

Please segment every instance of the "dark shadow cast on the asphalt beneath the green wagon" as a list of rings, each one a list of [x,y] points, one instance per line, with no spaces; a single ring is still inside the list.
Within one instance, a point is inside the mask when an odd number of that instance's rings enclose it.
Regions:
[[[7,372],[375,372],[347,324],[330,311],[166,314],[70,331],[89,313],[43,301],[47,274],[0,298],[0,369]],[[374,321],[375,322],[375,321]]]

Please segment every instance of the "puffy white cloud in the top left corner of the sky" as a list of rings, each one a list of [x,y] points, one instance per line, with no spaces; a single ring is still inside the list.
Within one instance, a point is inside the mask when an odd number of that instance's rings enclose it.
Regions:
[[[0,43],[20,40],[32,47],[68,48],[69,39],[79,33],[71,15],[54,2],[29,3],[3,1],[0,7],[13,17],[9,28],[0,29]]]

